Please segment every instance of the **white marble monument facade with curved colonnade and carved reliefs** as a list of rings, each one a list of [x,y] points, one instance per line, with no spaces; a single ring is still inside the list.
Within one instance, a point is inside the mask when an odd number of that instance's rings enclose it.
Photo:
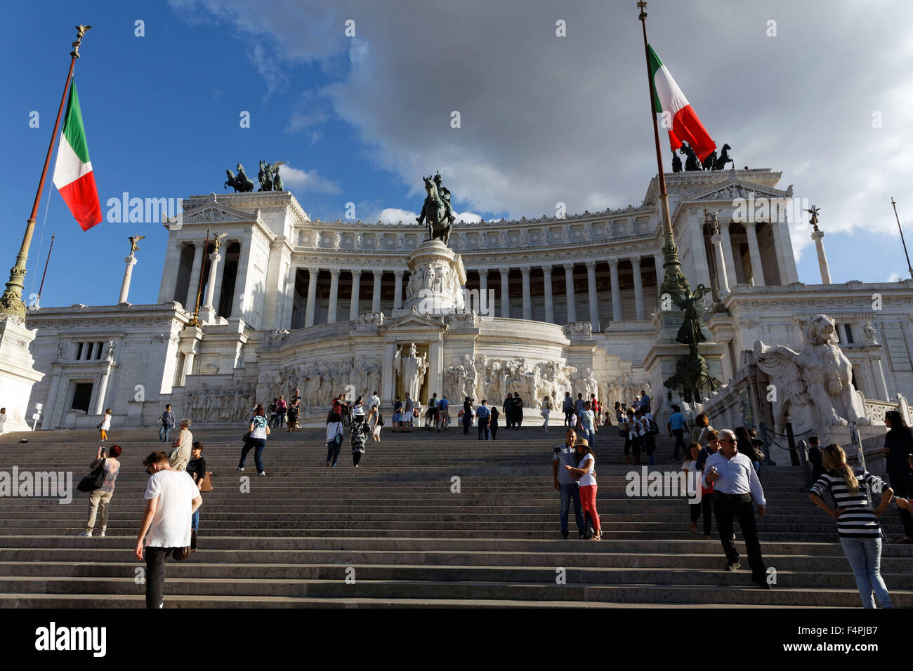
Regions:
[[[737,221],[740,197],[788,200],[779,180],[760,169],[666,175],[692,286],[709,285],[714,256],[725,267],[729,314],[708,320],[722,381],[754,341],[799,343],[793,317],[823,312],[867,398],[910,395],[913,281],[798,283],[788,225]],[[719,211],[712,239],[705,207]],[[30,312],[39,427],[94,426],[108,407],[116,424],[154,425],[166,403],[179,417],[235,421],[296,387],[317,414],[347,391],[376,389],[388,404],[402,390],[394,353],[412,343],[427,361],[423,404],[435,392],[499,402],[519,391],[538,403],[594,391],[611,404],[650,385],[665,395],[645,368],[663,274],[656,179],[620,210],[458,222],[448,253],[474,312],[450,315],[416,309],[409,257],[426,233],[414,222],[311,220],[288,192],[192,196],[184,208],[164,223],[156,304]],[[207,227],[227,234],[217,254]],[[190,327],[198,292],[203,323]]]

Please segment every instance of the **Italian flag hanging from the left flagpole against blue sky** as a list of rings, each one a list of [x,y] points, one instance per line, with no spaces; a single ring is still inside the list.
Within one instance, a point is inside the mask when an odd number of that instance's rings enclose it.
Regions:
[[[54,185],[82,226],[82,230],[101,223],[99,190],[89,161],[86,129],[82,125],[76,82],[70,84],[67,114],[60,132],[58,162],[54,166]]]

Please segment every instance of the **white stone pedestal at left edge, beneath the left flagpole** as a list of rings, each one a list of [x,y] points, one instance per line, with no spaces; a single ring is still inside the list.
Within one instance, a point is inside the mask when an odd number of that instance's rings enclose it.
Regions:
[[[28,399],[32,386],[45,376],[35,370],[28,346],[37,331],[26,329],[23,320],[0,315],[0,406],[6,408],[5,431],[31,431]]]

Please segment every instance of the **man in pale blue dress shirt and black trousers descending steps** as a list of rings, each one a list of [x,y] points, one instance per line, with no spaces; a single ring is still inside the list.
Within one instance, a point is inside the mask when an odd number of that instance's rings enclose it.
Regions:
[[[726,552],[726,571],[740,568],[739,551],[736,550],[732,521],[739,520],[748,561],[751,567],[751,582],[763,589],[770,589],[767,582],[767,568],[761,556],[758,528],[754,520],[752,501],[758,507],[761,517],[767,512],[761,481],[748,456],[736,448],[736,435],[729,429],[719,432],[719,452],[710,455],[704,466],[704,483],[713,484],[713,509],[717,516],[717,529],[723,550]]]

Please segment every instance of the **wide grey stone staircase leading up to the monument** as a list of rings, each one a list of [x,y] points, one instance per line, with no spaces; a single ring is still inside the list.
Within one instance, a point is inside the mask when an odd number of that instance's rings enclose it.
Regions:
[[[348,446],[325,466],[321,431],[274,431],[257,477],[253,454],[236,473],[244,428],[194,427],[215,490],[204,495],[199,550],[167,562],[165,607],[278,606],[860,606],[834,521],[808,500],[802,474],[763,474],[768,515],[759,519],[771,590],[743,568],[722,571],[714,540],[690,531],[683,498],[627,498],[622,441],[598,435],[597,506],[603,540],[561,540],[551,486],[551,447],[562,429],[415,428],[369,442],[362,466]],[[27,443],[20,444],[20,438]],[[0,498],[0,606],[123,608],[144,605],[144,563],[133,545],[147,476],[142,458],[163,444],[156,430],[111,432],[123,448],[105,538],[77,538],[87,495]],[[672,443],[657,468],[675,471]],[[0,436],[0,471],[72,471],[73,485],[99,446],[95,432]],[[788,461],[782,457],[782,461]],[[249,477],[249,492],[241,477]],[[458,479],[454,479],[458,478]],[[886,515],[901,535],[897,512]],[[698,522],[698,528],[700,523]],[[882,574],[897,607],[913,605],[911,546],[885,545]]]

